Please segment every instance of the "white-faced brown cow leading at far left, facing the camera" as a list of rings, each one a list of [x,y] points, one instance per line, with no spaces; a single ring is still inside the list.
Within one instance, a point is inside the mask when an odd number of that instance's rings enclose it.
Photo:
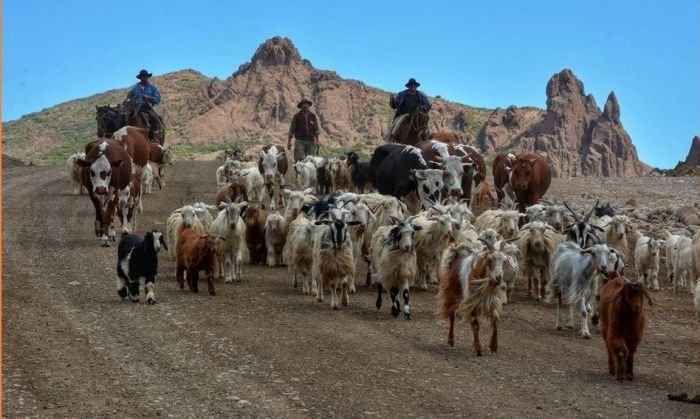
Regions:
[[[83,168],[83,185],[95,206],[95,235],[103,246],[109,246],[109,239],[116,241],[117,236],[112,226],[117,191],[129,185],[132,163],[121,143],[110,139],[93,143],[78,165]]]

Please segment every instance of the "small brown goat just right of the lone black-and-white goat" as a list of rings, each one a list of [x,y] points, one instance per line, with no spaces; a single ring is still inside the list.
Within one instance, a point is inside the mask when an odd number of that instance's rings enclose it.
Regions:
[[[209,295],[214,291],[216,268],[216,242],[219,238],[202,235],[184,226],[177,239],[177,271],[175,278],[180,289],[185,288],[184,273],[187,272],[187,286],[192,292],[199,292],[199,271],[207,276]]]

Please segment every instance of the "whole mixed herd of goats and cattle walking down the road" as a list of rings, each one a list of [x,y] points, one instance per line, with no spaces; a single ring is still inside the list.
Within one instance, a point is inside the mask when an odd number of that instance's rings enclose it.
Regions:
[[[71,156],[67,169],[74,193],[85,188],[95,206],[95,234],[104,246],[117,240],[115,219],[121,224],[117,291],[132,301],[139,301],[143,277],[147,302],[156,302],[161,247],[176,263],[181,289],[187,284],[198,292],[203,272],[212,296],[217,280],[243,280],[246,258],[252,265],[287,266],[295,288],[319,302],[328,291],[332,309],[349,305],[357,286],[375,287],[377,309],[388,294],[391,315],[406,319],[411,287],[439,284],[437,312],[449,320],[448,345],[454,345],[459,314],[481,355],[481,323],[491,323],[488,346],[496,352],[499,317],[522,278],[530,298],[554,303],[557,329],[572,325],[576,312],[580,334],[589,338],[589,319],[600,320],[610,373],[632,380],[643,302],[651,304],[649,290],[659,289],[665,248],[668,280],[693,292],[700,320],[700,234],[648,237],[609,205],[595,202],[579,212],[546,200],[550,169],[536,153],[497,156],[496,203],[478,150],[439,138],[381,145],[369,162],[350,152],[292,165],[275,145],[255,156],[227,150],[211,204],[181,202],[162,234],[152,230],[143,238],[132,234],[136,214],[152,183],[164,185],[169,150],[126,127]],[[492,209],[475,217],[472,204],[488,201]],[[631,264],[638,278],[623,274]],[[362,281],[358,267],[364,265]]]

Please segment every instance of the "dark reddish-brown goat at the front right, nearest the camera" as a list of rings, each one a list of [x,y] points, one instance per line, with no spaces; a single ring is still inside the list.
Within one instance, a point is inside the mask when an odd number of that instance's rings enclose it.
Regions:
[[[608,371],[619,381],[634,379],[634,353],[644,336],[644,299],[652,304],[643,283],[633,284],[613,274],[600,297],[601,331],[608,348]]]

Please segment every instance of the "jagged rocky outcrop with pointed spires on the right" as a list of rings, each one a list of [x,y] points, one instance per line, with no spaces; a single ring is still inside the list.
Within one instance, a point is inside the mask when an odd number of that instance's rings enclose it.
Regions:
[[[522,126],[523,121],[530,124]],[[510,138],[504,141],[504,138]],[[479,136],[485,152],[536,151],[555,176],[639,176],[650,168],[620,122],[620,106],[610,93],[603,111],[571,70],[547,83],[547,110],[508,108],[494,113]]]

